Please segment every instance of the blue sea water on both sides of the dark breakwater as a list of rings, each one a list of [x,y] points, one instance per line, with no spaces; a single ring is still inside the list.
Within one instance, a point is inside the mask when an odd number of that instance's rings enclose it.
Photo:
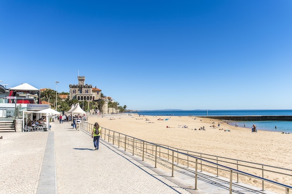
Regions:
[[[146,116],[292,116],[292,110],[153,110],[133,111]],[[253,124],[257,130],[292,134],[292,121],[234,121],[229,125],[250,128]]]

